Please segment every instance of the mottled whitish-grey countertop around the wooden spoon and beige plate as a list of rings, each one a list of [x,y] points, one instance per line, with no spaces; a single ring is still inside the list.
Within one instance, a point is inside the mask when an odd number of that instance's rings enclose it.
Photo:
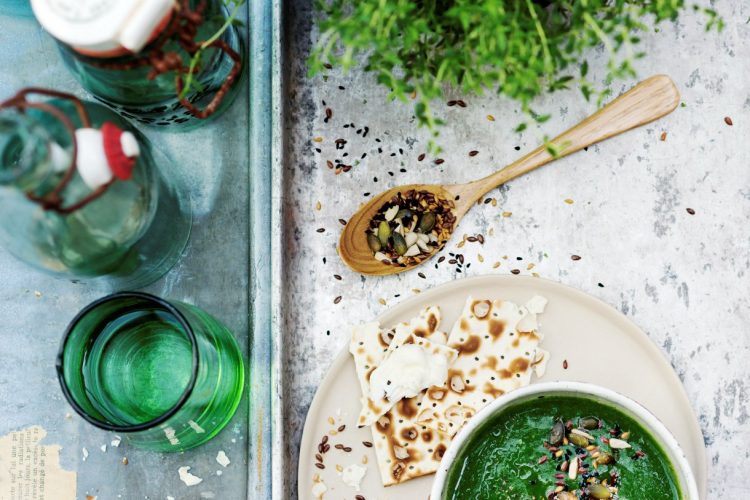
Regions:
[[[445,162],[438,166],[430,155],[420,162],[428,134],[416,126],[411,103],[388,101],[387,90],[359,69],[306,76],[305,60],[317,38],[314,15],[309,2],[290,2],[282,325],[289,495],[296,495],[307,408],[348,344],[347,325],[375,317],[413,289],[512,269],[579,288],[641,327],[669,359],[698,416],[709,498],[744,494],[750,463],[750,5],[725,0],[714,6],[727,23],[720,34],[705,33],[701,17],[686,12],[678,23],[643,35],[648,56],[636,69],[642,77],[665,73],[674,79],[682,94],[674,113],[489,193],[496,206],[473,208],[444,250],[461,252],[471,263],[460,274],[447,262],[436,269],[433,260],[421,268],[424,278],[416,271],[373,278],[353,273],[336,255],[338,220],[369,193],[480,178],[595,108],[575,90],[545,96],[535,109],[551,113],[550,121],[516,134],[514,103],[454,93],[448,98],[465,100],[466,108],[435,105],[447,122],[439,139]],[[602,68],[593,65],[590,74],[600,81]],[[618,94],[634,83],[618,81],[612,90]],[[333,112],[328,123],[325,108]],[[357,130],[365,126],[363,137]],[[338,138],[347,141],[340,151]],[[469,157],[471,150],[479,154]],[[354,167],[334,175],[326,161],[335,158]],[[464,233],[481,233],[485,243],[457,249]],[[572,260],[574,254],[581,259]]]

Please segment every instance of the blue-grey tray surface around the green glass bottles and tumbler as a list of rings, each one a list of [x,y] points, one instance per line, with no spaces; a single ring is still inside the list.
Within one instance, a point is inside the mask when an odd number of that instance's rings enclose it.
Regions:
[[[62,66],[52,39],[32,19],[0,14],[0,47],[0,99],[29,85],[84,96]],[[165,168],[185,184],[194,210],[183,258],[147,291],[194,303],[215,315],[247,352],[247,78],[242,85],[233,107],[210,127],[181,134],[143,130],[173,158],[174,164]],[[44,442],[62,445],[63,467],[78,472],[79,498],[246,498],[247,396],[219,436],[182,454],[139,451],[125,441],[112,448],[111,433],[72,412],[57,382],[55,356],[68,321],[102,295],[32,271],[0,249],[0,435],[31,425],[44,427]],[[73,413],[72,418],[66,419],[67,413]],[[103,444],[108,445],[106,453],[99,449]],[[84,447],[89,452],[85,462]],[[219,450],[232,461],[226,469],[216,463]],[[123,457],[128,465],[122,465]],[[177,474],[183,465],[191,466],[190,472],[203,482],[185,486]],[[220,469],[223,474],[217,476]]]

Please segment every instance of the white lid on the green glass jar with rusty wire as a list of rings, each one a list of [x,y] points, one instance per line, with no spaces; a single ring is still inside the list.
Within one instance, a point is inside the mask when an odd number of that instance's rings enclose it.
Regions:
[[[173,6],[173,0],[31,0],[52,36],[93,52],[138,52]]]

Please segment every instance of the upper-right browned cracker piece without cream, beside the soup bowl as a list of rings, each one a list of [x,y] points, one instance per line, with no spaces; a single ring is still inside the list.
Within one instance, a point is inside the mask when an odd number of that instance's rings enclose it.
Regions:
[[[491,401],[528,385],[532,372],[542,376],[549,353],[539,347],[536,314],[545,304],[535,297],[529,312],[512,302],[469,297],[448,337],[448,346],[459,351],[448,388],[427,390],[417,422],[453,437]]]

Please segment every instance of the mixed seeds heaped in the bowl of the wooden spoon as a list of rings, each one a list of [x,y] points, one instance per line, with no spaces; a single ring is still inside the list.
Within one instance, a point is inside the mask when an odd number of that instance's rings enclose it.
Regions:
[[[367,243],[373,256],[387,265],[415,265],[440,250],[453,231],[451,200],[429,191],[397,193],[372,218]]]

